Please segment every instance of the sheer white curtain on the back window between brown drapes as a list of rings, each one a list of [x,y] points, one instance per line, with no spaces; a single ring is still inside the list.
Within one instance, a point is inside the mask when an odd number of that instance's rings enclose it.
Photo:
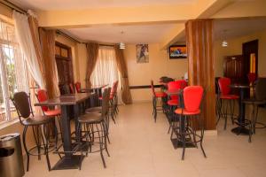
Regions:
[[[94,71],[91,73],[90,81],[93,85],[105,85],[108,84],[108,87],[113,86],[114,81],[119,81],[117,95],[118,101],[121,104],[121,80],[120,73],[117,68],[115,51],[113,47],[100,46],[98,49],[98,59],[94,68]]]

